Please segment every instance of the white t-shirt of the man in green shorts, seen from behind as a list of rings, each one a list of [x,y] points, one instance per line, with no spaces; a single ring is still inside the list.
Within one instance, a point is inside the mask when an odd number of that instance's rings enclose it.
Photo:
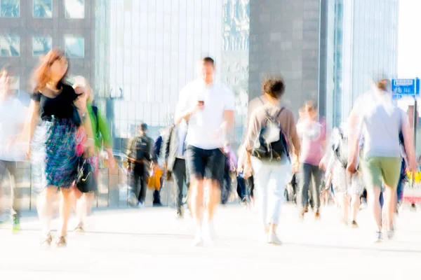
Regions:
[[[408,125],[408,116],[393,103],[392,94],[367,92],[356,100],[354,110],[359,116],[364,155],[399,158],[399,132],[403,125]]]

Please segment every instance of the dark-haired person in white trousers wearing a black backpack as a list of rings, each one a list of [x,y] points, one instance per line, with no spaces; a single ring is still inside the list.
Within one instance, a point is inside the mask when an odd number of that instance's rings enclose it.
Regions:
[[[262,90],[267,103],[255,109],[250,117],[243,144],[247,151],[243,172],[246,178],[253,173],[258,192],[256,198],[266,234],[265,241],[269,244],[281,244],[276,235],[276,227],[286,184],[293,171],[288,144],[293,144],[293,152],[298,159],[300,140],[293,112],[279,106],[279,100],[285,92],[283,79],[266,78]]]

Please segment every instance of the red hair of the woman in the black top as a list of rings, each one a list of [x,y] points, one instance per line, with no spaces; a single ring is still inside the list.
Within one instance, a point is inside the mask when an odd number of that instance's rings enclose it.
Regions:
[[[50,80],[48,72],[50,70],[51,65],[53,65],[55,61],[60,60],[63,57],[65,57],[65,53],[62,50],[60,50],[60,48],[53,48],[44,57],[41,58],[41,61],[39,62],[39,65],[36,67],[33,74],[35,91],[39,91],[47,85],[48,81]],[[65,76],[66,73],[62,77],[62,82]]]

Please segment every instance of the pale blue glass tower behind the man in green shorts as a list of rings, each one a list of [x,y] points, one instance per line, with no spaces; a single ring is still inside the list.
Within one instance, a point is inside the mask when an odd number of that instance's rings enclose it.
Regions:
[[[373,75],[397,73],[397,0],[344,1],[342,120]]]

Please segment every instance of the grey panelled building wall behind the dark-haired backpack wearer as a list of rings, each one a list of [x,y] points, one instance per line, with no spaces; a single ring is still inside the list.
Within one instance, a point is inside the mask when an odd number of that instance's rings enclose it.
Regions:
[[[280,73],[295,116],[307,99],[319,100],[320,20],[319,0],[250,2],[249,99],[262,93],[265,74]]]

